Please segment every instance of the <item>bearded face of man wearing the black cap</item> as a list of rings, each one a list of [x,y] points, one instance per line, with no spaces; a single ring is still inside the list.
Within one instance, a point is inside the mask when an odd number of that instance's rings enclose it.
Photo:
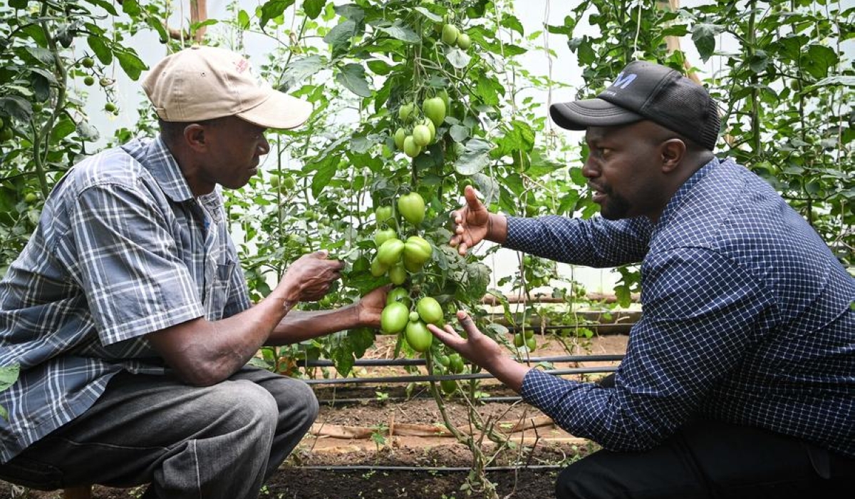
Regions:
[[[604,218],[645,216],[656,222],[670,193],[663,189],[663,129],[652,122],[587,128],[588,157],[582,175]]]

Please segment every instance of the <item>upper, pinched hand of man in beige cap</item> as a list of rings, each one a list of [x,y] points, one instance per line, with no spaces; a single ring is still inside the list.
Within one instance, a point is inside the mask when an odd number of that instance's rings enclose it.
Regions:
[[[286,300],[321,300],[344,267],[343,262],[328,259],[325,251],[307,253],[288,266],[280,286],[286,288]]]

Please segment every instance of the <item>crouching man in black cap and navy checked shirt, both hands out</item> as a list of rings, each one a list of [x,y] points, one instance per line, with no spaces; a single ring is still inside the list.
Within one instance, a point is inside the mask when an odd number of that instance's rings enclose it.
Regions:
[[[572,264],[641,262],[644,313],[608,383],[506,356],[465,312],[430,326],[565,430],[604,450],[559,498],[840,497],[855,480],[855,280],[769,184],[718,159],[702,86],[632,62],[598,98],[551,106],[586,130],[602,217],[454,212],[461,254],[489,240]]]

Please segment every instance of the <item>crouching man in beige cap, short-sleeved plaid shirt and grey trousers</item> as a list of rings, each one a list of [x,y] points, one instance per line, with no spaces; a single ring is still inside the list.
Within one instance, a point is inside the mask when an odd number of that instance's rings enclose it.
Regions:
[[[216,186],[244,186],[265,130],[299,126],[310,105],[210,47],[166,57],[143,86],[160,136],[69,170],[0,282],[0,365],[21,365],[0,392],[0,478],[256,497],[318,406],[305,383],[247,362],[262,345],[377,327],[385,292],[292,311],[339,279],[316,252],[251,306]]]

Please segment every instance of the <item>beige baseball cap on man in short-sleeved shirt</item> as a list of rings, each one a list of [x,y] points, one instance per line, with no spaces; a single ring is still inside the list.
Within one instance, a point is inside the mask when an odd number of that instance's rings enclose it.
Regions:
[[[238,116],[264,128],[295,128],[312,113],[308,102],[257,80],[244,56],[217,47],[167,56],[151,68],[143,89],[164,122]]]

